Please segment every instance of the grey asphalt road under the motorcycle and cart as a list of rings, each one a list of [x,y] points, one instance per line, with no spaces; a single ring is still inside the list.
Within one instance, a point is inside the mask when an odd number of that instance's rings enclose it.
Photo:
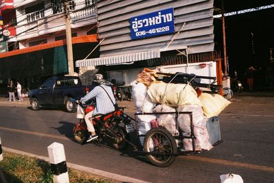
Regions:
[[[221,182],[219,176],[225,173],[239,174],[244,182],[274,182],[274,97],[234,97],[219,115],[223,143],[202,154],[178,156],[165,168],[153,166],[130,148],[121,152],[75,143],[71,133],[75,113],[32,111],[18,101],[0,105],[3,147],[48,156],[47,147],[58,142],[64,145],[67,162],[147,182]]]

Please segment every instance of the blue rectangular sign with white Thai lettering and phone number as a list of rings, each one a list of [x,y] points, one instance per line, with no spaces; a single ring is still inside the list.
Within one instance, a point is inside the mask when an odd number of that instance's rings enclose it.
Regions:
[[[135,16],[130,19],[132,39],[174,32],[173,8]]]

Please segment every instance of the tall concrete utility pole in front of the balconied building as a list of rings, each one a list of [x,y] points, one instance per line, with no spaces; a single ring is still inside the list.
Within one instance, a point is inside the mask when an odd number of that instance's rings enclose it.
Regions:
[[[65,1],[65,15],[66,15],[66,48],[68,54],[69,75],[74,75],[73,65],[73,43],[71,40],[71,16],[69,15],[69,1]]]

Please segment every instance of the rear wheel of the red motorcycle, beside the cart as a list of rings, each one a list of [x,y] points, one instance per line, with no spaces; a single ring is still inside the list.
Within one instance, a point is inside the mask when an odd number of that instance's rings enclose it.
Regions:
[[[115,140],[112,145],[119,150],[123,150],[127,148],[127,141],[125,139],[128,139],[127,132],[125,132],[125,129],[123,127],[114,127],[114,133],[116,134]]]

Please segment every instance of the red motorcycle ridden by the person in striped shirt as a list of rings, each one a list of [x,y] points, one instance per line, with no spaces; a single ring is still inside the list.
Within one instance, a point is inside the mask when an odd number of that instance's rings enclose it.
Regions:
[[[84,115],[95,110],[96,102],[93,100],[88,105],[83,105],[79,101],[77,103],[77,118],[79,121],[73,127],[73,138],[77,143],[84,143],[90,135],[86,127]],[[116,149],[123,150],[129,142],[128,133],[134,132],[132,119],[124,113],[125,107],[116,108],[108,114],[97,114],[92,118],[95,132],[98,135],[98,141],[108,141]]]

